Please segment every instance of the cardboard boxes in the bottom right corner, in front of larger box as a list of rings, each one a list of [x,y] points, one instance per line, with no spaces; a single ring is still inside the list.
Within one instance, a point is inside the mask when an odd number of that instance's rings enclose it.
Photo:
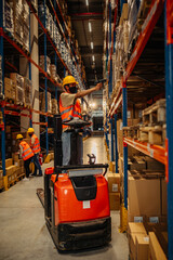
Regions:
[[[131,260],[165,260],[168,232],[165,223],[134,223],[128,226]]]

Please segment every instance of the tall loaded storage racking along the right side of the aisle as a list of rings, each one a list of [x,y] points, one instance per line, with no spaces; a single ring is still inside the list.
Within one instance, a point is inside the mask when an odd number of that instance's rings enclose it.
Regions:
[[[128,1],[128,3],[131,5],[131,9],[129,11],[127,9],[125,12],[125,8],[123,6],[124,10],[122,10],[120,21],[117,21],[119,26],[116,31],[116,41],[119,41],[122,34],[125,34],[125,20],[128,17],[133,18],[131,21],[131,25],[133,26],[129,29],[127,49],[123,49],[123,54],[125,53],[125,55],[119,60],[119,70],[116,73],[120,73],[120,75],[115,75],[116,81],[114,82],[112,92],[109,95],[109,109],[105,114],[105,120],[107,123],[109,118],[115,117],[116,126],[117,117],[120,114],[122,115],[125,209],[128,209],[128,147],[133,147],[135,151],[142,152],[144,155],[155,158],[165,166],[165,180],[168,182],[168,258],[172,259],[173,226],[171,220],[173,218],[173,209],[171,198],[173,197],[173,192],[171,187],[173,186],[173,138],[171,132],[173,131],[173,3],[171,0],[141,1],[141,5],[135,6],[136,12],[135,15],[133,13],[133,16],[131,15],[131,10],[134,4],[137,4],[137,1]],[[124,21],[123,26],[121,23],[122,20]],[[119,51],[121,51],[121,47],[116,48],[116,54]],[[119,57],[116,56],[116,58],[118,60]],[[116,69],[116,66],[112,66],[114,69]],[[107,72],[110,72],[109,68],[107,68]],[[109,80],[109,82],[111,81]],[[137,107],[139,102],[143,103],[143,106]],[[143,112],[141,115],[141,126],[137,126],[137,123],[133,126],[133,119],[128,120],[128,118],[130,114],[135,114],[137,109]],[[147,109],[149,109],[149,113]],[[167,120],[164,121],[162,118],[158,119],[160,115],[165,117],[165,110]],[[114,128],[112,125],[110,127]],[[110,148],[115,146],[117,150],[116,127],[115,141],[114,135],[110,135]],[[117,154],[117,151],[114,152],[115,154]],[[114,157],[111,157],[111,160],[114,160]],[[116,165],[118,165],[118,158],[116,158]],[[118,169],[118,166],[116,168]]]

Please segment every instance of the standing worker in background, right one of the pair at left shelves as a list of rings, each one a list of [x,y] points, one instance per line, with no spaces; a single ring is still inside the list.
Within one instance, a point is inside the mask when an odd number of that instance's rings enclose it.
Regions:
[[[39,153],[40,153],[40,142],[38,136],[35,133],[34,128],[28,128],[28,134],[30,136],[30,147],[35,154],[34,156],[34,164],[35,164],[35,172],[32,176],[37,176],[37,170],[39,170],[39,177],[42,176],[42,170],[41,170],[41,166],[39,162]]]

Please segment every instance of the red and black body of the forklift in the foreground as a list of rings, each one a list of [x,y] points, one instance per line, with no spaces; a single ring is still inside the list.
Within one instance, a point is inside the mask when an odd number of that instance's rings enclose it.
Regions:
[[[54,174],[54,168],[48,168],[44,191],[46,225],[58,250],[110,242],[108,185],[102,174],[69,178],[67,173]]]

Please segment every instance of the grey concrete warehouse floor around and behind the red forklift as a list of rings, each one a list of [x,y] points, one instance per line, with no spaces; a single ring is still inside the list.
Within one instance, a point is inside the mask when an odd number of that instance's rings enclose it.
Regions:
[[[95,154],[96,162],[107,162],[103,138],[84,141],[84,154]],[[88,161],[86,156],[84,162]],[[43,165],[43,169],[53,161]],[[108,247],[74,253],[58,253],[44,222],[44,211],[36,195],[43,187],[43,178],[21,181],[0,193],[0,260],[128,260],[125,234],[118,232],[119,211],[111,211],[112,239]]]

